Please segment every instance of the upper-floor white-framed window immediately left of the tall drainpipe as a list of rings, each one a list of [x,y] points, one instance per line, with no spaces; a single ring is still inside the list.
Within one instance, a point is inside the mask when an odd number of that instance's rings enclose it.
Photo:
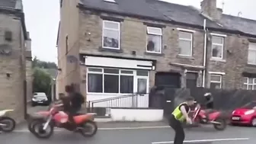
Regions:
[[[192,56],[193,34],[179,31],[179,55]]]

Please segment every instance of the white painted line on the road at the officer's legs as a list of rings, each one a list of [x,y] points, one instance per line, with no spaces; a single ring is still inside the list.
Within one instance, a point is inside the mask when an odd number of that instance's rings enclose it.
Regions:
[[[248,140],[249,138],[231,138],[231,139],[198,139],[198,140],[184,140],[184,142],[217,142],[217,141],[237,141],[237,140]],[[152,142],[152,144],[164,144],[173,143],[170,142]]]

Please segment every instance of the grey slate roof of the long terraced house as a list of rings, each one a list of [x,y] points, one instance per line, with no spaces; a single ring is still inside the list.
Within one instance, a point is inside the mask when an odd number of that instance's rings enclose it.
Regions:
[[[117,3],[104,0],[80,0],[85,8],[109,11],[119,14],[133,14],[136,16],[154,18],[162,21],[172,21],[178,24],[206,27],[218,30],[242,31],[242,33],[256,36],[256,21],[222,14],[220,24],[210,20],[200,13],[200,10],[191,6],[177,5],[158,0],[115,0]],[[245,26],[246,25],[246,26]],[[252,30],[254,29],[254,30]]]

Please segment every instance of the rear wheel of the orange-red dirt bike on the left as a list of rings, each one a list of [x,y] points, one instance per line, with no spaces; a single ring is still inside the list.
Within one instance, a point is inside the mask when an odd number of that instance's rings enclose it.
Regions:
[[[88,126],[91,126],[91,128],[93,130],[89,130],[91,132],[88,133]],[[98,126],[97,124],[94,122],[94,121],[86,121],[85,123],[82,124],[82,130],[80,130],[80,133],[82,134],[82,136],[85,136],[85,137],[92,137],[94,136],[97,131],[98,131]]]

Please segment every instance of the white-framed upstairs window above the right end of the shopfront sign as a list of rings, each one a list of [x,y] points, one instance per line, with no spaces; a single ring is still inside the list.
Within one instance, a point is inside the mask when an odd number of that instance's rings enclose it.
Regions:
[[[162,53],[162,29],[158,27],[147,27],[147,53]]]

